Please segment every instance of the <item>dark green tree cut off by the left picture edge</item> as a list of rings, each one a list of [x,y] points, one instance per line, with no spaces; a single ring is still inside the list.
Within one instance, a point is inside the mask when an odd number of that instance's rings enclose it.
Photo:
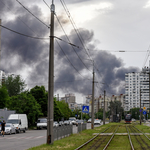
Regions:
[[[8,92],[5,86],[0,86],[0,108],[6,107],[6,103],[8,102]]]

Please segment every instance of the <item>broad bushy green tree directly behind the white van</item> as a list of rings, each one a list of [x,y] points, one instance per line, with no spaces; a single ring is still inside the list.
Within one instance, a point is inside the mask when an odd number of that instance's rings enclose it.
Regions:
[[[42,116],[41,107],[31,94],[21,93],[10,97],[8,108],[16,110],[16,113],[26,114],[29,126],[34,125],[35,121]]]

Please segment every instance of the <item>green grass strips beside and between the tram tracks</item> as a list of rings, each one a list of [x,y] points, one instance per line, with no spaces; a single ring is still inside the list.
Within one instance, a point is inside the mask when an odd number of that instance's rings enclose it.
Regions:
[[[30,148],[29,150],[74,150],[77,147],[81,146],[83,143],[90,140],[93,136],[93,133],[100,133],[103,132],[106,128],[110,126],[115,126],[115,128],[120,125],[118,128],[117,133],[127,133],[126,131],[126,125],[124,122],[122,123],[109,123],[106,125],[102,125],[100,127],[84,130],[81,133],[78,134],[72,134],[69,137],[54,141],[52,145],[43,144],[38,147]],[[135,125],[138,129],[140,129],[142,132],[150,133],[150,129],[147,126],[143,125]],[[107,130],[106,132],[108,132]],[[111,130],[110,130],[111,131]],[[134,139],[133,139],[134,140]],[[137,146],[136,146],[137,145]],[[138,147],[138,143],[135,146]],[[115,136],[112,142],[110,143],[110,146],[108,147],[110,150],[128,150],[131,149],[130,143],[128,140],[128,136]],[[91,149],[92,150],[92,149]]]

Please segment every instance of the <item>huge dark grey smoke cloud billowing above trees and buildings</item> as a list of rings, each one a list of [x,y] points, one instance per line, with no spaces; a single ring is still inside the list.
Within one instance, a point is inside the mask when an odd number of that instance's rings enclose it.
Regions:
[[[11,6],[11,13],[15,12],[17,15],[13,19],[9,18],[6,20],[2,18],[2,25],[30,36],[48,38],[49,29],[46,26],[42,25],[22,8],[14,5],[12,1],[3,0],[3,2],[5,2],[7,7],[0,5],[1,12],[4,13]],[[32,5],[30,9],[38,18],[44,18],[38,6]],[[63,15],[59,16],[59,18],[64,24],[68,23]],[[68,37],[71,43],[80,46],[80,48],[72,47],[58,40],[60,48],[55,40],[55,92],[61,90],[65,94],[69,89],[74,93],[91,94],[93,66],[89,59],[92,58],[96,66],[95,81],[99,85],[99,94],[103,89],[108,90],[110,94],[124,93],[125,73],[139,71],[139,68],[125,68],[120,58],[109,52],[98,50],[94,42],[96,40],[94,39],[93,31],[82,28],[80,29],[80,34],[86,47],[97,50],[97,52],[85,50],[74,30],[70,32]],[[60,38],[67,41],[64,35]],[[1,40],[0,69],[6,73],[16,73],[25,76],[29,88],[35,85],[45,85],[47,89],[49,40],[35,40],[23,37],[6,29],[2,29]],[[65,52],[65,55],[62,50]]]

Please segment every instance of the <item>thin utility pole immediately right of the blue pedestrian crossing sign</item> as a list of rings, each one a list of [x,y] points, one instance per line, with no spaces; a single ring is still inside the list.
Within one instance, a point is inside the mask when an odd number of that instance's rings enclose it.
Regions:
[[[93,60],[93,84],[92,84],[92,120],[91,129],[94,129],[94,60]]]

